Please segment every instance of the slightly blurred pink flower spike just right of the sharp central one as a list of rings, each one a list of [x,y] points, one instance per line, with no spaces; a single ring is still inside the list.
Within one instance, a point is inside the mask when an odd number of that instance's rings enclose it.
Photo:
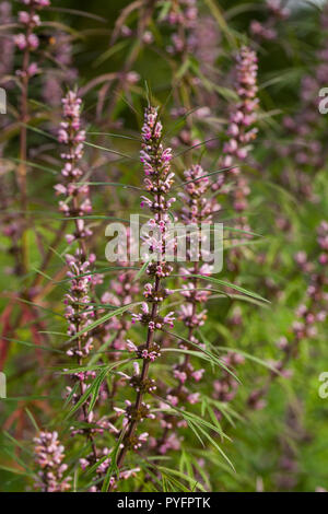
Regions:
[[[191,232],[191,226],[195,226],[196,230],[204,223],[210,225],[213,214],[221,209],[214,198],[210,199],[207,197],[207,192],[209,192],[211,188],[211,183],[206,175],[206,172],[200,165],[192,165],[190,170],[185,172],[186,185],[184,191],[179,194],[184,206],[180,211],[180,218],[186,226],[190,226]],[[198,237],[203,238],[206,235],[201,234],[198,235]],[[189,261],[191,260],[190,249],[188,248],[187,250]],[[194,274],[208,276],[211,273],[211,266],[208,262],[201,262],[201,258],[199,241],[198,255],[195,255],[195,261],[192,264],[190,262],[188,268],[186,267],[180,270],[180,274],[183,274],[185,279],[188,278],[188,283],[183,285],[184,291],[181,295],[185,297],[185,303],[181,305],[178,316],[188,329],[186,338],[194,344],[200,344],[200,341],[196,338],[194,332],[206,322],[207,311],[203,307],[208,296],[211,294],[210,289],[200,290],[198,279],[192,277]],[[180,343],[180,348],[195,350],[194,344],[188,344],[184,341]],[[199,382],[203,373],[204,370],[196,370],[190,362],[190,355],[185,354],[183,361],[174,366],[173,374],[178,381],[178,384],[166,390],[165,396],[167,401],[174,406],[185,405],[186,402],[191,405],[197,404],[199,401],[199,393],[192,393],[190,390],[190,382]],[[165,405],[163,405],[163,408],[165,408]],[[177,449],[180,444],[179,437],[177,434],[172,433],[172,430],[174,428],[184,427],[184,422],[181,423],[173,416],[164,414],[161,418],[161,427],[164,429],[162,437],[157,442],[151,441],[151,444],[156,445],[161,454],[165,454],[168,449]]]

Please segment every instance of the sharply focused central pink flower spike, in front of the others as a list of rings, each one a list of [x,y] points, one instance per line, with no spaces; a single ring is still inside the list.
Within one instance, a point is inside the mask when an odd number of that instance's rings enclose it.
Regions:
[[[161,281],[172,272],[172,266],[165,261],[165,247],[168,240],[169,215],[168,209],[174,202],[174,198],[167,198],[173,184],[174,173],[171,172],[172,150],[164,148],[162,143],[162,122],[159,119],[157,109],[149,106],[144,113],[144,124],[142,127],[142,145],[140,160],[145,174],[144,185],[149,197],[142,197],[141,206],[148,205],[154,218],[149,221],[150,229],[156,234],[155,243],[151,237],[148,243],[151,247],[154,244],[155,256],[147,267],[147,272],[152,277],[153,282],[144,287],[145,302],[142,304],[142,312],[133,316],[133,322],[140,322],[148,327],[147,340],[144,344],[137,347],[132,341],[128,341],[129,351],[141,359],[142,370],[139,363],[134,363],[134,374],[127,375],[130,385],[137,392],[136,402],[126,400],[126,408],[115,408],[118,416],[124,416],[124,427],[126,429],[121,444],[120,454],[117,459],[117,467],[120,468],[128,449],[138,449],[148,439],[148,433],[136,435],[136,429],[144,419],[154,419],[151,406],[143,401],[143,396],[152,393],[155,388],[154,381],[148,377],[150,363],[161,354],[161,347],[154,341],[157,330],[165,325],[173,326],[174,313],[162,316],[159,313],[159,305],[169,294],[167,289],[163,289]],[[113,488],[114,484],[110,484]]]

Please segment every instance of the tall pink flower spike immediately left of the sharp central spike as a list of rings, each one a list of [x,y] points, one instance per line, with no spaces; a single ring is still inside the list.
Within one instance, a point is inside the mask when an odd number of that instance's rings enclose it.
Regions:
[[[92,206],[89,198],[89,186],[81,180],[83,172],[81,170],[81,160],[83,156],[83,142],[85,131],[81,128],[81,98],[75,92],[69,91],[62,98],[63,121],[60,124],[58,140],[66,145],[66,151],[61,153],[65,162],[62,177],[65,184],[56,185],[56,192],[65,195],[66,199],[59,202],[60,211],[66,217],[74,220],[75,231],[73,234],[67,234],[66,240],[69,244],[78,242],[75,256],[67,254],[66,260],[69,267],[68,277],[70,280],[70,291],[66,294],[65,303],[66,318],[69,322],[68,336],[73,340],[73,346],[67,351],[67,354],[78,360],[79,366],[93,348],[93,337],[87,332],[87,326],[92,323],[94,311],[91,304],[90,288],[96,276],[87,274],[90,266],[94,261],[94,256],[87,257],[86,238],[92,234],[85,225],[83,215],[91,212]],[[74,373],[73,377],[80,387],[80,394],[68,388],[72,395],[73,401],[78,401],[86,390],[87,378],[93,377],[92,372]],[[89,424],[94,419],[94,413],[83,404],[82,414],[84,423]],[[92,446],[93,462],[97,459],[96,446],[93,432],[95,429],[84,428],[84,433]],[[79,433],[79,430],[72,430],[72,435]]]

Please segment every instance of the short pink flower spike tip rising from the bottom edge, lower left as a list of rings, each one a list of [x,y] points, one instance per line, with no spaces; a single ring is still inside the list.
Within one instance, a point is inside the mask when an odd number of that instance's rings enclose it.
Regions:
[[[63,464],[65,447],[58,440],[57,432],[40,432],[34,437],[35,443],[35,460],[40,468],[38,471],[38,481],[35,488],[42,492],[65,492],[71,486],[71,477],[63,478],[67,470],[67,464]]]

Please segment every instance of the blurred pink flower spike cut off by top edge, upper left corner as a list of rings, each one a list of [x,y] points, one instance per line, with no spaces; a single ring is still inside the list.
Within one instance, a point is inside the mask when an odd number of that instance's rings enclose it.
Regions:
[[[28,11],[20,11],[19,12],[19,23],[23,27],[23,32],[20,32],[14,36],[14,43],[17,48],[22,51],[26,52],[34,51],[39,46],[39,38],[35,34],[35,27],[40,25],[40,17],[37,14],[37,11],[42,10],[45,7],[50,5],[49,0],[22,0],[26,7],[28,7]],[[33,77],[39,72],[38,66],[36,62],[30,62],[26,68],[26,61],[23,62],[23,69],[17,70],[17,75],[24,78]]]

